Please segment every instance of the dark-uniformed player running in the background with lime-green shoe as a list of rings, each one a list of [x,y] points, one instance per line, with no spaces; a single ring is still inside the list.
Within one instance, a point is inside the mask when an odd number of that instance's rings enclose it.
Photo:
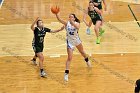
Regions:
[[[91,18],[91,21],[89,23],[86,22],[86,14],[88,14]],[[83,21],[88,27],[91,27],[92,23],[95,25],[94,30],[97,37],[96,44],[100,44],[101,37],[99,35],[99,29],[101,28],[102,25],[102,16],[101,16],[101,11],[94,6],[92,1],[89,2],[89,7],[86,13],[84,14]]]

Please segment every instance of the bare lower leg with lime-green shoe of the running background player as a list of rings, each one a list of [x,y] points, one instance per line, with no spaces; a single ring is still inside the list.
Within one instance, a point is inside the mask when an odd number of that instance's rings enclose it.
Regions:
[[[101,20],[97,20],[96,24],[95,24],[95,27],[94,27],[95,34],[96,34],[96,37],[97,37],[96,44],[100,44],[101,37],[99,36],[99,28],[101,27],[101,24],[102,24],[102,21]]]

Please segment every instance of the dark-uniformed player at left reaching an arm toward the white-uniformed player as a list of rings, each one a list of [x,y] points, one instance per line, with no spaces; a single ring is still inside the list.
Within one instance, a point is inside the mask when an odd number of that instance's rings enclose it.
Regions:
[[[35,27],[35,24],[37,27]],[[46,32],[55,33],[59,32],[64,29],[64,27],[61,27],[61,29],[58,30],[51,30],[49,28],[46,28],[43,26],[43,21],[39,19],[39,17],[33,22],[31,25],[31,29],[34,33],[34,38],[32,42],[32,46],[35,52],[35,56],[33,57],[32,61],[36,65],[36,58],[39,58],[39,67],[40,67],[40,76],[44,77],[46,75],[45,71],[43,70],[43,47],[44,47],[44,37],[46,35]]]

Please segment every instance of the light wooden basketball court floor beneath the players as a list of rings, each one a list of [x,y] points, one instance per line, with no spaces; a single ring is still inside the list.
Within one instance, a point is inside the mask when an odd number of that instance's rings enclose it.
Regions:
[[[41,16],[45,26],[58,29],[62,25],[50,12],[51,5],[60,6],[63,19],[74,12],[82,20],[83,13],[76,6],[85,8],[87,1],[4,1],[0,9],[0,93],[133,93],[135,80],[140,78],[140,28],[127,5],[130,3],[139,20],[139,1],[135,4],[133,0],[107,0],[109,10],[104,13],[103,26],[106,32],[100,45],[95,44],[93,26],[91,35],[86,35],[86,26],[81,22],[79,35],[93,67],[87,68],[75,49],[69,82],[63,81],[67,58],[65,30],[46,35],[44,68],[47,78],[39,77],[38,66],[30,62],[34,55],[30,30],[33,19]],[[73,3],[75,7],[71,6]],[[42,5],[39,9],[38,4]]]

